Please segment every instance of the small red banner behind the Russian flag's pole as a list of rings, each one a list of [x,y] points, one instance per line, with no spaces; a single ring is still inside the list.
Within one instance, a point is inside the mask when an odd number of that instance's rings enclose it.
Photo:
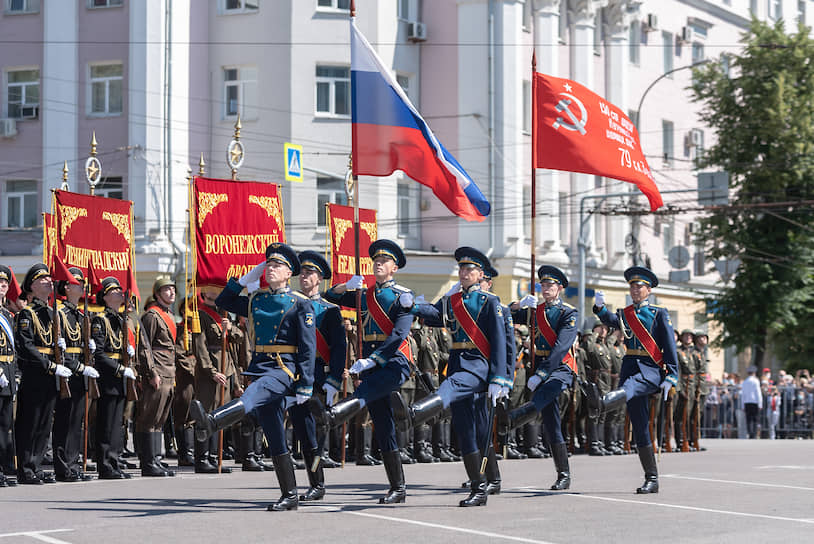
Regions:
[[[344,283],[356,273],[356,251],[353,241],[353,207],[328,204],[328,234],[331,237],[331,283]],[[359,208],[359,269],[366,285],[376,285],[373,260],[368,255],[370,243],[378,237],[376,210]]]

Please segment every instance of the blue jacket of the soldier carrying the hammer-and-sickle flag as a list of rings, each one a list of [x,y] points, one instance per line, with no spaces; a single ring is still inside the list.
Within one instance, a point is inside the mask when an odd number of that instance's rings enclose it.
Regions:
[[[540,302],[540,304],[545,303]],[[536,374],[544,380],[554,377],[570,382],[573,372],[563,364],[562,360],[577,339],[577,309],[558,298],[553,303],[546,305],[545,315],[551,328],[557,333],[557,341],[553,346],[549,345],[540,332],[535,308],[522,308],[512,313],[512,317],[517,322],[527,325],[535,323],[537,331],[534,343]]]

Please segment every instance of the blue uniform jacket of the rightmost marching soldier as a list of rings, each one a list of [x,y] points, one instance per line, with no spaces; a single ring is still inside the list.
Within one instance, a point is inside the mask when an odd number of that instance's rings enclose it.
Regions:
[[[607,306],[602,306],[602,308],[594,306],[594,313],[599,317],[602,323],[609,327],[616,329],[622,328],[622,331],[625,333],[625,346],[628,350],[636,349],[644,351],[644,346],[632,333],[630,325],[628,325],[627,320],[621,312],[619,314],[622,315],[621,319],[624,327],[619,326],[619,315],[608,310]],[[653,340],[656,341],[659,349],[661,349],[662,360],[667,366],[668,374],[671,375],[670,381],[673,382],[673,385],[676,385],[677,378],[675,377],[678,376],[678,353],[676,352],[673,324],[670,322],[670,314],[667,313],[667,308],[650,304],[647,300],[644,300],[636,306],[636,315],[639,316],[639,321],[641,321],[642,325],[650,332],[650,335],[653,336]],[[625,359],[628,358],[635,358],[645,365],[658,367],[656,362],[646,355],[625,354]]]

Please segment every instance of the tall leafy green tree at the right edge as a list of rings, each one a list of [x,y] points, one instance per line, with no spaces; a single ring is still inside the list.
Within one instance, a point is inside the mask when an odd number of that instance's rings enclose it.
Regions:
[[[730,205],[701,220],[710,259],[737,256],[734,281],[710,300],[719,346],[766,346],[791,367],[814,361],[814,41],[752,20],[740,55],[694,71],[693,100],[717,142],[701,168],[730,174]],[[724,62],[724,61],[729,61]],[[729,69],[726,65],[728,64]]]

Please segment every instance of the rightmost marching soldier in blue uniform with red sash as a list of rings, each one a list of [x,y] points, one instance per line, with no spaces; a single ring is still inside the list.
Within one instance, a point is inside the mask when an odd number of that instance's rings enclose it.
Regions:
[[[659,389],[666,396],[678,383],[678,354],[670,314],[666,308],[650,304],[647,300],[651,290],[659,284],[656,275],[643,266],[630,267],[624,274],[633,300],[628,308],[638,318],[633,326],[624,310],[617,314],[608,310],[602,291],[597,292],[593,308],[603,323],[621,329],[625,335],[627,352],[622,360],[619,389],[600,398],[596,389],[589,387],[588,400],[594,410],[594,417],[599,412],[621,408],[627,402],[639,460],[645,475],[644,484],[636,489],[636,493],[658,493],[658,467],[648,428],[649,398]],[[644,338],[636,334],[637,328],[642,329],[641,336]],[[653,351],[648,351],[648,344]]]

